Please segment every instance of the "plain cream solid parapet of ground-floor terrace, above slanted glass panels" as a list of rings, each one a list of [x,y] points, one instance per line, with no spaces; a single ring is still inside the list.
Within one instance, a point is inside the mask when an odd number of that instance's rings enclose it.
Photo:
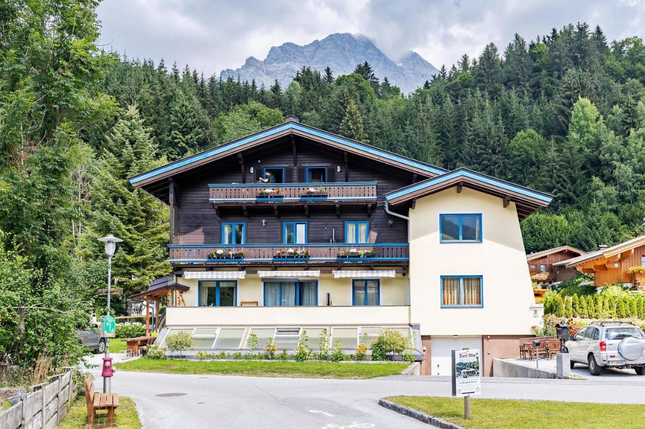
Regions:
[[[167,307],[166,326],[409,325],[410,306]]]

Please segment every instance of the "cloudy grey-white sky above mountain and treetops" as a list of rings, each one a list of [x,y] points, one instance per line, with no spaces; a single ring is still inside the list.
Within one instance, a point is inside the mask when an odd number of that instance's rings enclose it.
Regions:
[[[105,49],[206,75],[337,32],[366,35],[394,60],[414,50],[437,68],[490,41],[503,50],[516,32],[533,39],[579,21],[610,41],[645,37],[645,0],[104,0],[97,13]]]

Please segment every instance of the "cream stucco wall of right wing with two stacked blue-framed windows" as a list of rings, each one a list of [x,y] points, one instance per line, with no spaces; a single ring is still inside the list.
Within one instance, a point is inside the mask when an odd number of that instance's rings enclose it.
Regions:
[[[439,214],[482,213],[481,243],[441,243]],[[419,198],[410,209],[410,319],[421,334],[529,334],[533,289],[515,204],[467,187]],[[483,307],[441,308],[442,275],[483,276]]]

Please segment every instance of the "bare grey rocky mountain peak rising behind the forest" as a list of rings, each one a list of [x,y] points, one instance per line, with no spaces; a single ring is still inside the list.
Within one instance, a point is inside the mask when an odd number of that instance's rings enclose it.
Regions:
[[[243,81],[255,81],[266,86],[277,79],[283,88],[303,66],[323,72],[332,68],[334,76],[352,73],[356,64],[369,62],[379,79],[387,77],[390,83],[399,86],[404,93],[412,92],[430,79],[438,70],[416,52],[403,55],[398,64],[388,58],[372,39],[362,34],[333,33],[321,40],[301,46],[286,42],[272,46],[264,61],[248,57],[241,68],[223,70],[222,79],[229,76]]]

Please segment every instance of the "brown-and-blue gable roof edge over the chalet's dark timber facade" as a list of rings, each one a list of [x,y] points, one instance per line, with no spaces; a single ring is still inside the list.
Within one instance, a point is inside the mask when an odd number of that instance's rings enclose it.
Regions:
[[[355,153],[366,158],[372,158],[380,162],[387,162],[388,164],[413,171],[414,173],[421,173],[425,176],[441,175],[447,171],[440,167],[426,164],[425,162],[403,157],[402,155],[397,155],[384,149],[375,148],[369,144],[323,131],[322,129],[289,121],[273,126],[272,128],[264,129],[263,131],[258,131],[246,137],[238,138],[232,142],[215,146],[215,148],[206,149],[203,152],[195,153],[195,155],[170,162],[150,171],[145,171],[144,173],[130,177],[128,180],[132,186],[140,187],[287,135],[298,135],[300,137],[310,138],[328,146]]]

